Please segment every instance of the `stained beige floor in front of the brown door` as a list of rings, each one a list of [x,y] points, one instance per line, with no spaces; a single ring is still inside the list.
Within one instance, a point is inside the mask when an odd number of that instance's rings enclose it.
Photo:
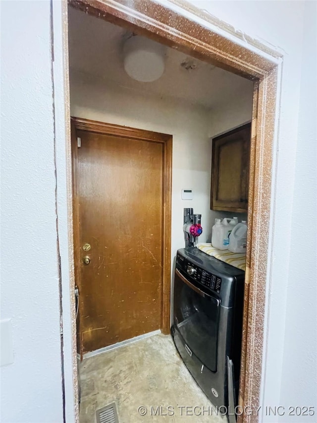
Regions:
[[[120,423],[227,422],[216,415],[170,335],[157,334],[86,358],[79,374],[80,423],[95,423],[96,410],[113,402]]]

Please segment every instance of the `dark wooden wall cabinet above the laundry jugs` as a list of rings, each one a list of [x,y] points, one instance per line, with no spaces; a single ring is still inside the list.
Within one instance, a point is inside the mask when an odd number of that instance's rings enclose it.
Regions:
[[[246,212],[251,123],[212,139],[211,210]]]

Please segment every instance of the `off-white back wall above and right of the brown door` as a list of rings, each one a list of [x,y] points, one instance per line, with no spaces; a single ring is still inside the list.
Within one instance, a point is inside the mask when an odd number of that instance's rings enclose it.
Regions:
[[[70,73],[70,99],[72,116],[173,136],[172,260],[176,250],[184,247],[184,207],[202,214],[200,241],[206,242],[211,233],[209,110],[171,98],[141,95],[74,71]],[[182,188],[192,188],[194,199],[182,200]]]

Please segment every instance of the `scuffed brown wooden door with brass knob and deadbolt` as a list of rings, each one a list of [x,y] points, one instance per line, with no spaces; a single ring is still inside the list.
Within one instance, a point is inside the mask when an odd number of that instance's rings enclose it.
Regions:
[[[73,139],[85,353],[160,328],[164,144],[79,129]]]

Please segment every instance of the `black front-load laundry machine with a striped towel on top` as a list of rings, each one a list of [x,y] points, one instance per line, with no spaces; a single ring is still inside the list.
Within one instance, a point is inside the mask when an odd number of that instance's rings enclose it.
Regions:
[[[171,334],[211,403],[238,399],[245,272],[196,247],[177,251]]]

